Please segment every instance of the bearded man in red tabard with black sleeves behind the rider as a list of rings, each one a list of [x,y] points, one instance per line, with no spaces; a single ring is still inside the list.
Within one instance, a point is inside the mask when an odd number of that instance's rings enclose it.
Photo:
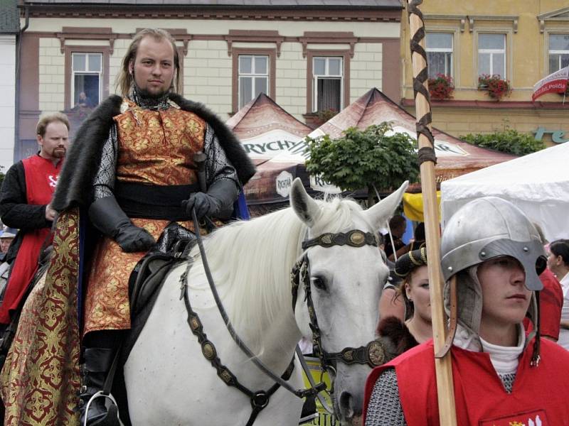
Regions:
[[[50,200],[68,148],[69,121],[65,114],[43,116],[36,126],[40,151],[6,173],[0,192],[0,217],[4,224],[20,231],[6,254],[14,263],[4,300],[0,324],[9,324],[38,267],[42,247],[50,244],[50,227],[55,210]]]

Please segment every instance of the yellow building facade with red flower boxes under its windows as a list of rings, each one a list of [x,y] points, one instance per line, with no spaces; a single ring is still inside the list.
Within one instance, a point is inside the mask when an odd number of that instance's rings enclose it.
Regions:
[[[546,94],[532,102],[533,85],[569,65],[566,0],[424,1],[430,76],[452,77],[452,99],[432,102],[433,125],[453,136],[509,126],[547,145],[569,140],[569,97]],[[406,12],[405,12],[406,13]],[[408,40],[402,19],[402,40]],[[402,104],[414,112],[410,52],[402,43]],[[509,80],[499,101],[479,89],[479,75]],[[564,102],[566,101],[566,102]]]

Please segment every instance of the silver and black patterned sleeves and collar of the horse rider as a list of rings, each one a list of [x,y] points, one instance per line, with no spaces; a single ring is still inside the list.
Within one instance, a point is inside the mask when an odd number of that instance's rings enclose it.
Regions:
[[[144,109],[168,109],[172,108],[169,103],[168,94],[163,97],[144,97],[133,89],[130,98],[136,102],[139,107]],[[102,148],[101,162],[97,174],[95,175],[94,199],[110,197],[115,190],[115,178],[117,175],[117,155],[118,155],[118,133],[117,125],[112,124],[109,137]],[[203,153],[206,154],[206,184],[210,187],[213,182],[221,179],[229,179],[235,182],[239,187],[239,180],[235,168],[231,165],[225,151],[221,148],[216,133],[209,124],[206,124],[206,135],[203,141]],[[188,194],[189,197],[189,194]]]

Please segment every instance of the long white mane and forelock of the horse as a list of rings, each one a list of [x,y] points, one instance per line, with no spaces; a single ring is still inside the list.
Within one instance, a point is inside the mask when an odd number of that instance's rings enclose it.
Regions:
[[[321,214],[312,234],[339,232],[353,226],[361,207],[335,197],[318,201]],[[370,225],[370,229],[371,225]],[[223,226],[204,239],[208,263],[230,321],[251,349],[262,351],[260,341],[267,324],[282,310],[292,314],[290,271],[302,254],[307,226],[291,207],[250,221]],[[199,256],[196,249],[193,254]],[[196,262],[196,266],[201,261]],[[227,287],[225,287],[227,286]]]

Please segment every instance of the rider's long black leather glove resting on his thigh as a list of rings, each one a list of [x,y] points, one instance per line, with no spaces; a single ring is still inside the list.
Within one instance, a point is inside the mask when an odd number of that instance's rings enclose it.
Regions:
[[[156,242],[146,229],[130,222],[115,197],[104,197],[92,202],[89,217],[95,228],[117,241],[122,251],[127,253],[147,251]]]

